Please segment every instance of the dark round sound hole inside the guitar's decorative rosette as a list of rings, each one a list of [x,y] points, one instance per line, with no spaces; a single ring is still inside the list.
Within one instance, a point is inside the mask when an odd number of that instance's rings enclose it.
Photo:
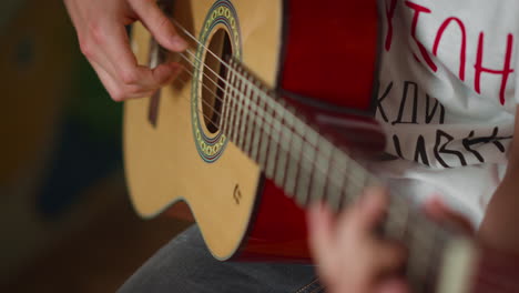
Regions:
[[[211,38],[207,50],[210,51],[205,54],[202,78],[202,111],[205,127],[211,133],[216,133],[221,121],[223,90],[227,73],[227,68],[222,65],[222,60],[225,61],[233,53],[227,31],[217,30]]]

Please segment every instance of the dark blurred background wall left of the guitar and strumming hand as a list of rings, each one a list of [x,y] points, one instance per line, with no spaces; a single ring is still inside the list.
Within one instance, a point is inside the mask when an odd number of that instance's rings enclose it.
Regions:
[[[0,292],[113,292],[187,223],[135,216],[122,104],[61,0],[2,0],[0,37]]]

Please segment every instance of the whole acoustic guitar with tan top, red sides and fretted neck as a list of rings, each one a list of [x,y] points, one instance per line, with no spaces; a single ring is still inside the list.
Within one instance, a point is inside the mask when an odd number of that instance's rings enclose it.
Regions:
[[[136,211],[152,218],[185,201],[222,261],[309,261],[304,208],[324,201],[339,211],[381,184],[365,163],[385,143],[373,119],[376,1],[160,4],[191,46],[167,52],[133,27],[141,63],[185,68],[150,99],[125,102]],[[415,292],[519,292],[498,270],[510,262],[403,196],[391,196],[379,232],[407,245]]]

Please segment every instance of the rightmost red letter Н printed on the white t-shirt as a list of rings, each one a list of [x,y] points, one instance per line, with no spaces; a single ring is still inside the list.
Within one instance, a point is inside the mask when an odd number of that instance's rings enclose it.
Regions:
[[[484,39],[485,34],[482,32],[479,33],[478,40],[478,52],[476,57],[476,64],[474,68],[476,69],[476,77],[474,79],[474,88],[477,93],[481,93],[481,73],[492,73],[492,74],[501,74],[501,88],[499,90],[499,102],[505,104],[505,90],[507,88],[508,75],[513,72],[513,69],[510,68],[510,60],[511,60],[511,52],[513,46],[513,36],[511,33],[508,34],[507,38],[507,52],[505,53],[505,64],[502,70],[489,69],[482,67],[482,54],[484,54]]]

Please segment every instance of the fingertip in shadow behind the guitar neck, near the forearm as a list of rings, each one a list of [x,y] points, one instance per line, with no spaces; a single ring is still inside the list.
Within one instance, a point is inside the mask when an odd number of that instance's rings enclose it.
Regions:
[[[454,224],[467,233],[475,233],[472,223],[462,214],[448,208],[438,196],[428,200],[424,209],[435,221]]]

